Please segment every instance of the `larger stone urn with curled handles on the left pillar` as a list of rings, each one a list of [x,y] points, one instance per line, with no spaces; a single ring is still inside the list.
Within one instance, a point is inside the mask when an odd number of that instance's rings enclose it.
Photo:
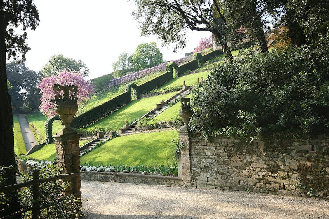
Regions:
[[[56,95],[55,111],[60,116],[60,119],[64,124],[64,127],[62,128],[61,132],[63,134],[75,132],[70,125],[72,123],[74,115],[78,111],[78,87],[75,85],[62,86],[60,84],[55,84],[53,86],[53,91]],[[61,92],[61,94],[59,92]]]

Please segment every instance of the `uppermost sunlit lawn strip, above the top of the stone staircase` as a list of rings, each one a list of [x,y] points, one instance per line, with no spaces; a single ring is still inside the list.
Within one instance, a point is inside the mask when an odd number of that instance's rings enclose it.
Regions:
[[[167,87],[176,87],[179,85],[182,85],[183,87],[183,81],[185,80],[186,85],[195,85],[197,82],[197,78],[199,77],[199,80],[201,81],[201,77],[206,77],[208,76],[208,71],[203,71],[195,74],[189,74],[185,76],[181,76],[178,78],[173,78],[170,81],[166,82],[163,86],[158,88],[156,91],[162,91],[162,89],[167,88]]]

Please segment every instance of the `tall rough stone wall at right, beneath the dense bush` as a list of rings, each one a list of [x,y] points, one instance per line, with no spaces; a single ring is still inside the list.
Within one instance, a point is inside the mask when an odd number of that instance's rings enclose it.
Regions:
[[[191,171],[185,178],[193,187],[329,198],[329,138],[274,144],[197,135],[189,141]]]

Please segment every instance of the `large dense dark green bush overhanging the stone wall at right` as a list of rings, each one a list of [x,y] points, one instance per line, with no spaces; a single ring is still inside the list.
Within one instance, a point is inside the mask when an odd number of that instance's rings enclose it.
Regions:
[[[218,64],[195,92],[191,128],[251,141],[329,131],[329,36],[318,44]]]

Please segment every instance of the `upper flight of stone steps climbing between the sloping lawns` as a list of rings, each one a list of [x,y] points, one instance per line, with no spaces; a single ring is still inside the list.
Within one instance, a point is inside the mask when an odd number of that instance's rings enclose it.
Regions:
[[[157,115],[159,115],[160,113],[162,113],[164,110],[166,110],[166,109],[169,108],[169,103],[170,102],[172,102],[174,99],[179,99],[181,97],[184,97],[184,96],[190,94],[193,89],[194,89],[194,87],[187,87],[185,90],[180,91],[176,95],[174,95],[174,96],[170,97],[168,100],[166,100],[162,106],[157,107],[157,108],[151,110],[150,112],[146,113],[141,118],[145,118],[145,117],[146,118],[153,118],[153,117],[156,117]],[[176,104],[178,104],[178,103],[176,103]],[[138,123],[138,120],[136,120],[135,122],[131,123],[130,124],[130,128],[122,131],[122,133],[120,135],[127,135],[127,134],[133,133],[134,132],[133,129],[135,129],[137,127],[137,123]]]

